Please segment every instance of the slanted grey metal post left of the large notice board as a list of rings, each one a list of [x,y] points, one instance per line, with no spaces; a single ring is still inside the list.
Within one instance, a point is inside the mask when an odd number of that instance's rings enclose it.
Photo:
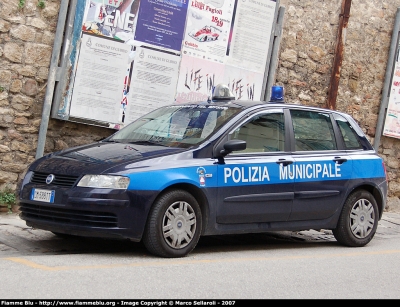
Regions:
[[[58,71],[58,60],[60,57],[60,50],[63,42],[63,32],[65,27],[65,20],[68,12],[69,0],[61,0],[60,12],[58,13],[57,29],[55,34],[55,41],[53,52],[51,55],[49,75],[47,77],[46,95],[43,102],[42,121],[39,128],[38,146],[36,149],[36,159],[43,156],[44,146],[46,143],[47,128],[49,125],[51,103],[53,100],[54,86]]]

